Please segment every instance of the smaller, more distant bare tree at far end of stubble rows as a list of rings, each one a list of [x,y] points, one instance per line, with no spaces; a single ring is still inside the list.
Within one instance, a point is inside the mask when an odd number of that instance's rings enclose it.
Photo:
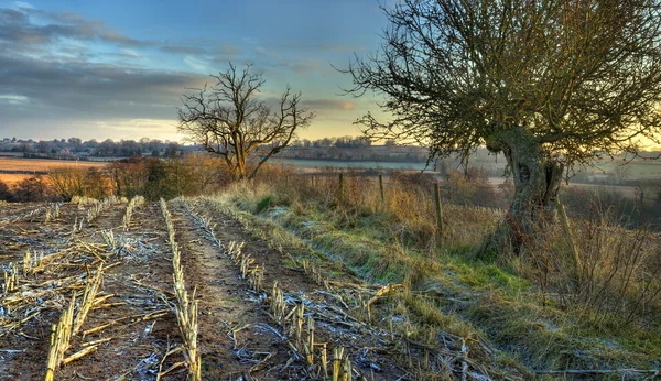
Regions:
[[[250,68],[237,70],[230,63],[227,72],[212,76],[217,80],[213,87],[184,95],[178,109],[178,131],[223,156],[236,179],[253,178],[314,118],[301,106],[301,92],[292,92],[289,86],[273,106],[259,99],[266,80]],[[249,170],[251,154],[256,164]]]

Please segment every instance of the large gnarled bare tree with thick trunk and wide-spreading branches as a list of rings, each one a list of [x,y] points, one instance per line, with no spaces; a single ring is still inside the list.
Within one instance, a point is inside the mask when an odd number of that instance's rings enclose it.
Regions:
[[[383,95],[392,119],[368,113],[357,122],[373,138],[429,145],[431,157],[480,145],[503,153],[516,190],[496,236],[518,252],[552,215],[565,170],[659,143],[660,8],[658,0],[403,0],[383,8],[380,50],[346,69],[349,91]]]

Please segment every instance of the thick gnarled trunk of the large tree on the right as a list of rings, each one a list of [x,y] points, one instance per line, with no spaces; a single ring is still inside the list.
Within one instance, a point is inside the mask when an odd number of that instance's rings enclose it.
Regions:
[[[511,250],[519,255],[524,244],[553,221],[564,167],[523,128],[495,134],[487,148],[505,154],[514,181],[514,199],[485,251]]]

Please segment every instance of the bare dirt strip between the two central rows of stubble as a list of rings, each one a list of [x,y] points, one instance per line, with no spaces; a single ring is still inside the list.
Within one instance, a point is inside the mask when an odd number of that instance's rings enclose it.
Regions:
[[[274,367],[259,366],[267,357],[280,364],[289,359],[289,347],[260,308],[259,295],[239,279],[229,259],[201,237],[181,208],[172,211],[185,279],[197,286],[203,379],[290,379],[292,374]]]

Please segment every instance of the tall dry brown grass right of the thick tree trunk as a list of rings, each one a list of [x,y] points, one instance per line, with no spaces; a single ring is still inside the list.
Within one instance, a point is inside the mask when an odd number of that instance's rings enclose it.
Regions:
[[[540,286],[542,304],[577,311],[606,331],[660,328],[661,237],[626,229],[608,211],[568,224],[540,226],[514,259]]]

